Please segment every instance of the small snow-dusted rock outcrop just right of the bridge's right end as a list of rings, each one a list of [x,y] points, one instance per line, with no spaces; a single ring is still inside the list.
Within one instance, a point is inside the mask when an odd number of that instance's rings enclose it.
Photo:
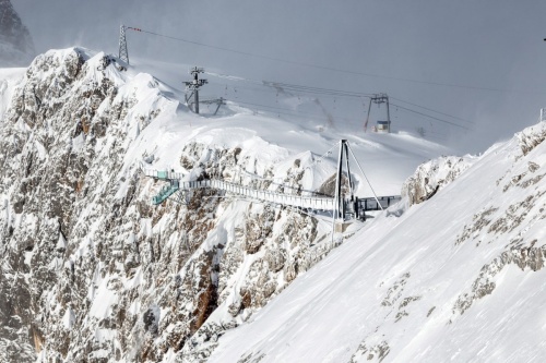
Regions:
[[[402,185],[402,196],[407,197],[410,205],[425,202],[455,180],[474,161],[475,158],[470,156],[443,156],[422,164]]]

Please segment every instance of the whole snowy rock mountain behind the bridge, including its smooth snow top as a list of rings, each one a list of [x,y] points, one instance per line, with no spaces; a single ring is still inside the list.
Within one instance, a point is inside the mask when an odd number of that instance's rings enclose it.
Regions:
[[[163,182],[142,168],[328,193],[343,137],[392,195],[444,152],[233,102],[195,116],[178,90],[121,65],[71,48],[0,71],[0,361],[201,362],[333,247],[329,218],[215,190],[153,206]]]

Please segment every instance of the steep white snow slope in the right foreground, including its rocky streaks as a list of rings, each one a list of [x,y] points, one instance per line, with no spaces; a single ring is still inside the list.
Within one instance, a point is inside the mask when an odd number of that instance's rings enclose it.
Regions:
[[[544,361],[545,137],[543,122],[402,217],[379,216],[210,362]]]

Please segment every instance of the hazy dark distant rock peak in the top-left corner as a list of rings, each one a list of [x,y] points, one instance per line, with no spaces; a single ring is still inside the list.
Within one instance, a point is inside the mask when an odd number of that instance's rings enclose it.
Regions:
[[[0,0],[0,66],[27,65],[33,57],[31,33],[10,0]]]

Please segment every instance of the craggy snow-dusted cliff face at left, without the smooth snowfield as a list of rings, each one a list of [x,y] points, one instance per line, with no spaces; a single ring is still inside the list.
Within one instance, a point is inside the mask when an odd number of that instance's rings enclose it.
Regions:
[[[162,183],[127,153],[178,102],[104,59],[38,56],[0,122],[2,362],[202,361],[329,250],[311,247],[325,233],[313,218],[212,190],[151,206]],[[181,147],[200,179],[248,161],[240,148]]]

